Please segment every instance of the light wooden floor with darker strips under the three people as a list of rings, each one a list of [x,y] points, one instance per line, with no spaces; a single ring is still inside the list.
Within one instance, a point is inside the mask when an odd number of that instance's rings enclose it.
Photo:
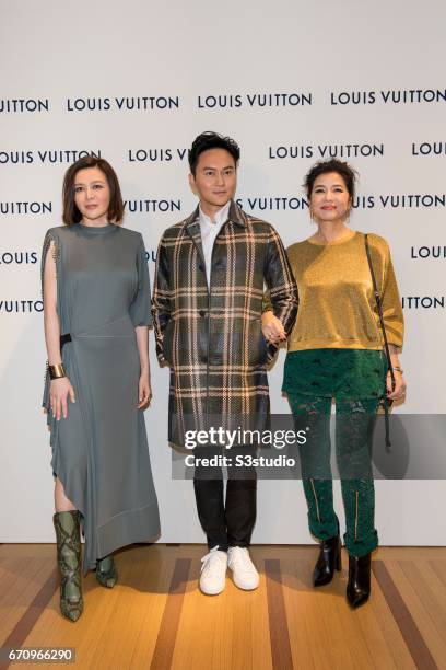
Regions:
[[[371,600],[356,611],[344,597],[345,554],[342,575],[315,590],[315,546],[253,546],[258,590],[240,591],[228,576],[223,593],[206,597],[203,553],[190,544],[119,552],[119,584],[107,590],[90,574],[73,624],[59,614],[55,546],[0,545],[0,646],[74,647],[82,670],[446,668],[446,548],[379,548]]]

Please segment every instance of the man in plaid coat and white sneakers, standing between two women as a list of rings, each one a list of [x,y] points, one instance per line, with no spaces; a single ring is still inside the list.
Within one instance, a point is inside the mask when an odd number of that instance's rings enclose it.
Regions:
[[[233,200],[238,159],[231,138],[214,132],[196,138],[189,183],[199,207],[168,228],[159,246],[152,311],[159,360],[171,367],[173,447],[187,446],[185,437],[199,430],[212,437],[212,427],[267,427],[266,366],[277,345],[265,339],[260,327],[265,284],[284,333],[296,316],[297,289],[282,241],[272,226],[246,215]],[[228,566],[239,588],[254,589],[259,578],[248,546],[256,474],[248,466],[236,472],[232,453],[223,449],[228,457],[224,503],[222,471],[207,467],[202,459],[218,453],[211,444],[210,439],[207,450],[195,449],[197,508],[210,550],[202,559],[200,588],[220,593]]]

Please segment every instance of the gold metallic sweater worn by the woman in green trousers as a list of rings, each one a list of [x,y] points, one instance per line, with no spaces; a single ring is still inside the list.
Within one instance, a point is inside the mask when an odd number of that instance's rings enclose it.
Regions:
[[[387,242],[369,234],[372,263],[382,297],[389,344],[402,347],[403,316]],[[289,351],[382,349],[384,339],[373,293],[364,234],[347,240],[292,244],[287,250],[297,282],[298,312]],[[268,309],[268,307],[266,307]]]

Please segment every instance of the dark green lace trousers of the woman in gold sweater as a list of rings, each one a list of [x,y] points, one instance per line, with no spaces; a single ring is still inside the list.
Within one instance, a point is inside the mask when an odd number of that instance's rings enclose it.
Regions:
[[[339,532],[330,465],[331,397],[289,391],[289,401],[296,429],[309,428],[306,443],[300,447],[309,530],[319,540],[328,540]],[[371,462],[377,407],[378,398],[336,402],[336,458],[345,512],[344,543],[352,556],[364,556],[378,544]]]

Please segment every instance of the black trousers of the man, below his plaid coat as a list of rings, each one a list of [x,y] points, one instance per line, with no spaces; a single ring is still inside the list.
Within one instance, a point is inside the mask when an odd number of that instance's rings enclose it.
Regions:
[[[245,460],[255,457],[255,453],[254,447],[230,450],[197,447],[193,450],[197,511],[209,548],[219,546],[220,551],[226,552],[230,546],[250,544],[256,523],[257,473]],[[227,469],[226,500],[222,466],[202,462],[203,459],[222,455],[226,458]]]

